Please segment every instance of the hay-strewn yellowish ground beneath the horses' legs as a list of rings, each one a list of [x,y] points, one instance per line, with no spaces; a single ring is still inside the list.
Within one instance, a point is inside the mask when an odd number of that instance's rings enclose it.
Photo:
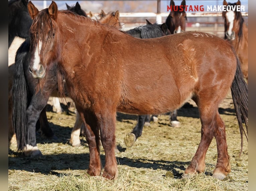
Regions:
[[[192,103],[192,102],[191,102]],[[142,136],[131,148],[126,148],[124,135],[136,124],[135,115],[118,113],[116,142],[119,153],[118,178],[108,181],[90,177],[89,149],[84,137],[82,146],[72,147],[68,140],[75,122],[74,107],[56,114],[48,107],[47,116],[57,139],[37,137],[41,158],[23,157],[16,145],[9,151],[9,190],[168,190],[168,191],[221,191],[248,190],[248,143],[244,141],[241,157],[240,132],[230,95],[221,104],[220,113],[226,123],[231,173],[224,180],[211,176],[217,163],[216,141],[213,140],[206,155],[206,171],[187,179],[180,179],[194,156],[201,137],[201,125],[196,107],[178,110],[182,126],[169,125],[168,115],[160,115],[158,123],[144,127]],[[104,165],[104,151],[101,159]]]

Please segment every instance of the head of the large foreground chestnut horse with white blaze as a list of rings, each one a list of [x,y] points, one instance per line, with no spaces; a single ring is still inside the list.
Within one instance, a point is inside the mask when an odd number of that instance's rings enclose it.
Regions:
[[[38,11],[31,1],[28,12],[33,19],[30,27],[30,63],[29,71],[34,78],[43,78],[47,65],[56,63],[56,31],[58,8],[52,1],[48,9]]]

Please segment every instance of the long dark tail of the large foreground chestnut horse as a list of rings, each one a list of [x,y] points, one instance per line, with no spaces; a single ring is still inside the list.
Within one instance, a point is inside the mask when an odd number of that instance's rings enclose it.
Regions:
[[[243,133],[245,134],[248,141],[248,85],[244,81],[240,61],[237,56],[236,59],[237,67],[235,77],[231,85],[231,93],[241,134],[241,155],[243,149]],[[243,126],[243,122],[245,123],[246,132]]]

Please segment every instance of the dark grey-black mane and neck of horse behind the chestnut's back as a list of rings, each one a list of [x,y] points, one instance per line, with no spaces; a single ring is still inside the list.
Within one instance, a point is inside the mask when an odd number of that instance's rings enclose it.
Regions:
[[[133,36],[140,33],[142,39],[157,38],[163,36],[161,25],[154,23],[152,25],[143,25],[126,31],[129,35]]]

